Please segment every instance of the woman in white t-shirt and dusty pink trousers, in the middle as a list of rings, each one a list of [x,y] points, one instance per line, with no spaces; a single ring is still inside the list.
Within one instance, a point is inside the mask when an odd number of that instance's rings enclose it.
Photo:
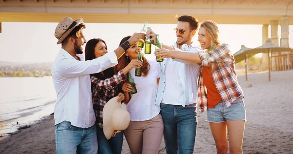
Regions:
[[[130,36],[121,40],[124,43]],[[122,70],[130,60],[137,59],[140,48],[137,43],[131,46],[118,60],[117,69]],[[146,60],[143,55],[142,77],[135,77],[135,68],[130,71],[136,83],[137,93],[131,95],[131,85],[124,83],[127,111],[130,123],[124,131],[131,154],[158,154],[163,137],[163,120],[160,106],[155,105],[157,84],[161,75],[161,67],[154,60]]]

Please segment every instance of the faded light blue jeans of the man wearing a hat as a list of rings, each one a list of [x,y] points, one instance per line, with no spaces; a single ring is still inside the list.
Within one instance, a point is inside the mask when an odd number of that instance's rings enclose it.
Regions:
[[[55,128],[57,154],[98,154],[96,125],[79,128],[63,121]]]

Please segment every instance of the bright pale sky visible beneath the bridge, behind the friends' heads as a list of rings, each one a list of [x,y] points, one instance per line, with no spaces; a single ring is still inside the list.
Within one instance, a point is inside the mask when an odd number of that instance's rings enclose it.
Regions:
[[[2,22],[0,33],[0,61],[42,63],[53,62],[61,45],[56,44],[54,31],[58,23],[42,22]],[[86,23],[84,36],[86,40],[104,39],[108,51],[115,50],[122,38],[140,32],[144,23]],[[176,41],[174,28],[177,24],[151,24],[153,31],[159,34],[160,41],[172,44]],[[219,25],[220,40],[230,46],[232,53],[237,52],[241,45],[255,48],[262,45],[262,25]],[[269,26],[270,31],[270,26]],[[289,32],[293,26],[289,26]],[[278,30],[280,35],[280,27]],[[199,46],[198,34],[193,42]],[[269,33],[269,37],[271,34]],[[293,47],[293,33],[289,33],[289,45]],[[85,48],[85,45],[83,46]],[[153,50],[154,51],[154,50]],[[146,58],[154,59],[153,52]]]

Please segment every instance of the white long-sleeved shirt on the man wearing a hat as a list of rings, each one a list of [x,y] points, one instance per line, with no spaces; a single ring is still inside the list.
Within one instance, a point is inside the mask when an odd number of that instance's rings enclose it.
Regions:
[[[76,56],[81,61],[61,48],[53,62],[52,79],[57,93],[54,119],[55,125],[66,120],[73,126],[88,128],[96,121],[89,75],[113,67],[118,61],[114,52],[86,61],[83,55]]]

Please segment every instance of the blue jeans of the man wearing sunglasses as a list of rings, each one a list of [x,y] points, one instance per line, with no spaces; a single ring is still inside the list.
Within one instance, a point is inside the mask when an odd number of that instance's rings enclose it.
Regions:
[[[196,104],[160,104],[167,154],[192,154],[197,128]]]

